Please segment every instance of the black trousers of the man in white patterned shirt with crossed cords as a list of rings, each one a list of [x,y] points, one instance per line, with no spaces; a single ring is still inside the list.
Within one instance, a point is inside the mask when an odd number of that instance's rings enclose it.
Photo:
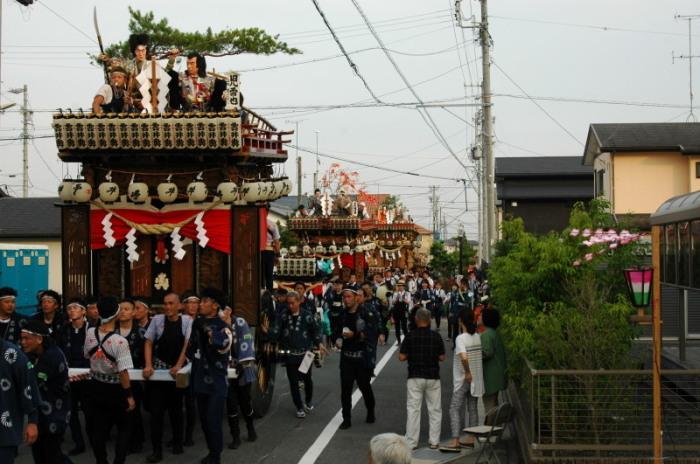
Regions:
[[[129,414],[124,391],[120,384],[90,380],[88,387],[87,419],[92,424],[90,444],[97,464],[108,464],[107,440],[112,426],[117,427],[114,443],[114,463],[124,464],[129,447]]]

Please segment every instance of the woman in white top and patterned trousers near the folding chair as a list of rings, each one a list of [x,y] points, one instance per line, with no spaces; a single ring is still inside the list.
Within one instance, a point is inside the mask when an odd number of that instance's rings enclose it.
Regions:
[[[459,314],[462,334],[455,340],[455,354],[452,363],[453,390],[450,401],[450,425],[452,440],[441,446],[440,451],[459,452],[460,446],[473,447],[474,439],[460,441],[463,427],[473,427],[478,423],[477,402],[484,394],[484,376],[481,355],[481,338],[476,332],[476,321],[471,309]],[[464,417],[464,403],[467,403],[467,417]]]

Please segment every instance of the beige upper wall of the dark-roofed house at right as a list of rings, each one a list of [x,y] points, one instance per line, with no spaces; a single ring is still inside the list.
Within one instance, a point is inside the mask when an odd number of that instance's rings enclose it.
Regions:
[[[650,214],[667,199],[690,191],[690,163],[680,153],[615,153],[612,160],[615,214]]]

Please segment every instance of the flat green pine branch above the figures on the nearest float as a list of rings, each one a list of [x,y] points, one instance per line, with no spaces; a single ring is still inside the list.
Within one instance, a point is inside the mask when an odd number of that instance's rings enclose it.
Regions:
[[[166,18],[156,20],[153,12],[141,12],[129,7],[129,32],[148,34],[151,40],[151,53],[158,57],[168,50],[177,48],[185,52],[199,52],[208,56],[240,55],[253,53],[272,55],[274,53],[297,54],[301,51],[279,40],[279,35],[271,36],[258,28],[225,29],[214,32],[207,28],[204,32],[183,32],[170,25]],[[110,45],[105,50],[112,58],[131,58],[129,42]]]

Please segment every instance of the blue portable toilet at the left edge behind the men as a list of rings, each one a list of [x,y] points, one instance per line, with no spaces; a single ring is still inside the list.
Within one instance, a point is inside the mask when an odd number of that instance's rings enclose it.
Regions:
[[[49,286],[49,247],[0,243],[0,287],[17,290],[17,312],[34,314],[37,293]]]

